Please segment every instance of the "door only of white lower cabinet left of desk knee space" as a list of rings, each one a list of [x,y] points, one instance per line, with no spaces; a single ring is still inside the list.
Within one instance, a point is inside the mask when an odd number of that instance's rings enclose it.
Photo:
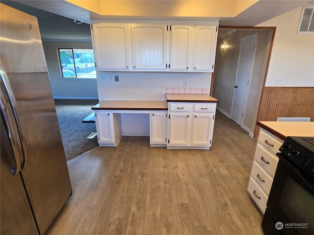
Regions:
[[[98,143],[115,143],[112,112],[97,111],[95,114]]]

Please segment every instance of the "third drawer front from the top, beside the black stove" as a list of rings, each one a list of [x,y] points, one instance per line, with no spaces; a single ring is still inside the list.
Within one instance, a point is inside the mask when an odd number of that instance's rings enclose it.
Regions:
[[[254,161],[251,171],[251,177],[257,182],[257,184],[264,190],[268,196],[271,185],[273,184],[273,178],[262,169],[262,167]]]

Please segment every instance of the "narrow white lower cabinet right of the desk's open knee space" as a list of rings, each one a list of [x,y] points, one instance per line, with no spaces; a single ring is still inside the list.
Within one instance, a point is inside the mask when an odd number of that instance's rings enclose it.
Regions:
[[[150,145],[165,147],[167,145],[167,111],[152,111],[150,114]]]

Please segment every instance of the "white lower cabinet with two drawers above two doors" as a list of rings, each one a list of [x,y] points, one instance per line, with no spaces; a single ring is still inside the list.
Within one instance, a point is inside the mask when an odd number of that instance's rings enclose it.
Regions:
[[[209,149],[216,103],[169,102],[167,148]]]

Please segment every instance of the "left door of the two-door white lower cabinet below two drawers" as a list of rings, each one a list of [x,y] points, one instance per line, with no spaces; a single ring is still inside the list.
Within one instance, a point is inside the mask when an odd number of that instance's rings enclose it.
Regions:
[[[189,125],[191,115],[171,114],[169,119],[169,142],[168,145],[187,145],[189,144]]]

